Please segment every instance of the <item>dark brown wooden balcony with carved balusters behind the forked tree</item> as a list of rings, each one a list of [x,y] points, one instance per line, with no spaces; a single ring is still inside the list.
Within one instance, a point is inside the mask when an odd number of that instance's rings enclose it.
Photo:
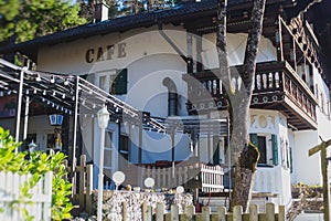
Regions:
[[[231,71],[241,72],[242,66]],[[222,82],[214,73],[217,70],[185,74],[188,82],[189,114],[205,114],[213,109],[226,109]],[[252,108],[277,109],[293,129],[316,129],[317,98],[308,85],[287,62],[258,63]]]

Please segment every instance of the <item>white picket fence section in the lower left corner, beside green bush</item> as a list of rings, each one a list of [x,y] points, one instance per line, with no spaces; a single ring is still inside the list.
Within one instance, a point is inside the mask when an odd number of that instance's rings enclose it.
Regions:
[[[51,202],[52,202],[52,171],[47,172],[36,186],[29,191],[32,194],[31,203],[15,204],[10,203],[20,197],[20,187],[32,176],[12,172],[0,172],[0,220],[21,221],[24,220],[22,209],[33,215],[33,220],[46,221],[51,220]],[[19,208],[19,209],[18,209]]]

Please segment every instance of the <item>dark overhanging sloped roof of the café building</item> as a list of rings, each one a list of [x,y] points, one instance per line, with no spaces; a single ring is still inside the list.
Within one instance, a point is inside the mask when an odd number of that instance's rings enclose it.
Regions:
[[[252,4],[252,0],[231,0],[228,1],[228,10],[243,8]],[[291,0],[267,0],[271,3],[293,4]],[[57,44],[66,41],[74,41],[92,35],[103,35],[111,32],[125,32],[135,28],[151,27],[159,23],[181,22],[192,18],[202,18],[207,14],[215,14],[217,9],[216,0],[202,0],[201,2],[186,2],[180,7],[139,13],[135,15],[126,15],[99,23],[89,23],[79,25],[65,31],[47,34],[34,40],[14,45],[4,45],[0,49],[0,54],[11,52],[21,52],[31,57],[35,57],[38,49],[44,45]]]

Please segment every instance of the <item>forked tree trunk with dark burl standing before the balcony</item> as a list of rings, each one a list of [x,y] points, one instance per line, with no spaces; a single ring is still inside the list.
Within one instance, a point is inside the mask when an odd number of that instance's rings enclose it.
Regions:
[[[226,90],[228,112],[232,124],[231,160],[235,162],[234,187],[231,208],[242,206],[247,211],[253,186],[253,176],[259,152],[249,143],[248,119],[249,105],[253,93],[256,56],[261,35],[263,18],[266,0],[254,0],[250,18],[250,30],[244,59],[244,69],[237,73],[231,73],[226,51],[226,11],[227,0],[218,0],[217,8],[217,54],[220,61],[220,75]],[[233,84],[232,82],[235,82]]]

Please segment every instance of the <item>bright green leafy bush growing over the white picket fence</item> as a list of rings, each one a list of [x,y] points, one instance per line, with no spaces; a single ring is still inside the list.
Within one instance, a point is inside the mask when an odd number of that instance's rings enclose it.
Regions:
[[[30,189],[47,172],[54,171],[52,182],[52,220],[63,220],[71,218],[73,208],[70,202],[72,185],[63,179],[67,173],[63,165],[66,156],[63,152],[45,154],[41,151],[15,152],[20,146],[14,138],[10,136],[9,130],[0,127],[0,171],[19,172],[20,175],[31,173],[29,182],[25,182],[20,189],[20,198],[12,202],[13,208],[19,208],[20,202],[32,203]],[[25,210],[26,213],[26,210]],[[26,213],[26,220],[31,220]]]

